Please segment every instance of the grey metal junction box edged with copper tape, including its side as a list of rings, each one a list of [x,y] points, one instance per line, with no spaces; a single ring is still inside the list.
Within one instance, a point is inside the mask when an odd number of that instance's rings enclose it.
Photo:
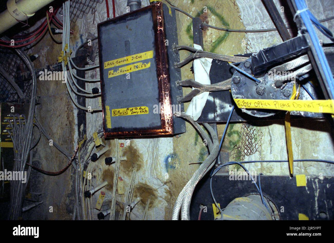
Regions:
[[[105,138],[185,132],[175,10],[160,3],[98,24]]]

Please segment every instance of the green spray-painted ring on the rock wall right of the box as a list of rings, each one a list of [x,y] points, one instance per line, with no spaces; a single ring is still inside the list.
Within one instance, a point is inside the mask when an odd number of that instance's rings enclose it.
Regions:
[[[193,1],[192,1],[193,3]],[[226,27],[227,29],[229,28],[229,24],[228,22],[224,19],[224,17],[217,13],[212,7],[207,6],[207,9],[211,12],[212,15],[216,16],[222,23],[222,25],[224,27]],[[198,11],[195,15],[195,17],[199,17],[201,16],[203,10]],[[186,27],[186,34],[188,35],[189,39],[192,41],[194,36],[192,34],[192,22],[190,22],[190,24],[187,25]],[[210,52],[214,52],[218,46],[220,46],[227,38],[227,36],[229,35],[229,32],[225,32],[222,36],[219,36],[216,40],[214,40],[212,42],[212,46],[210,48]]]

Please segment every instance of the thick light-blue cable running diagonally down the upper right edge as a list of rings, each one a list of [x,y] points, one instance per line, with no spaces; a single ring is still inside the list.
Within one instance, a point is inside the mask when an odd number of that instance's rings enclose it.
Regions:
[[[311,41],[314,45],[314,48],[315,48],[315,51],[319,57],[319,61],[320,61],[320,65],[324,71],[324,74],[325,74],[325,78],[326,80],[324,80],[329,89],[330,89],[330,92],[331,92],[331,96],[334,97],[334,79],[333,79],[333,76],[332,76],[332,72],[331,72],[331,69],[328,65],[328,61],[325,57],[325,53],[323,51],[323,49],[321,48],[320,44],[319,44],[319,38],[318,36],[316,35],[316,32],[313,28],[313,25],[312,25],[312,22],[311,22],[311,19],[310,19],[310,14],[309,12],[310,11],[302,11],[304,9],[307,9],[307,5],[305,3],[304,0],[295,0],[295,3],[296,3],[296,6],[297,6],[297,9],[299,11],[301,11],[299,14],[305,24],[305,27],[310,35],[310,38],[311,38]]]

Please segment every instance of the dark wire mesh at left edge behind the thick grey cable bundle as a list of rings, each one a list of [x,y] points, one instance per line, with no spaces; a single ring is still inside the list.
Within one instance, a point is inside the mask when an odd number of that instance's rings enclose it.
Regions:
[[[8,75],[17,83],[26,97],[31,92],[31,74],[17,53],[0,48],[0,63]],[[8,80],[0,74],[0,102],[15,102],[20,98]]]

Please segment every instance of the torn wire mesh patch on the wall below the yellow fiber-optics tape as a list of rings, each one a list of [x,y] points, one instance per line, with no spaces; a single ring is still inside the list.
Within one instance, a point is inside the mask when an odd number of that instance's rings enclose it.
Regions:
[[[234,146],[230,156],[233,160],[241,161],[244,160],[245,156],[255,154],[257,151],[260,152],[262,137],[263,133],[258,129],[243,123],[240,128],[239,142]]]

